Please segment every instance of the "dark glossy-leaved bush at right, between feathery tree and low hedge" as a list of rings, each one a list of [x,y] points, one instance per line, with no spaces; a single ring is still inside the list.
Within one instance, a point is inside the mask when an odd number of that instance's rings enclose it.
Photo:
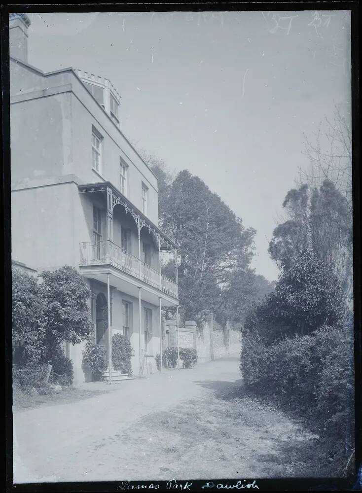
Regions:
[[[341,327],[344,316],[337,277],[308,249],[281,274],[275,292],[250,311],[244,328],[258,332],[269,345],[285,336],[309,334],[322,325]]]

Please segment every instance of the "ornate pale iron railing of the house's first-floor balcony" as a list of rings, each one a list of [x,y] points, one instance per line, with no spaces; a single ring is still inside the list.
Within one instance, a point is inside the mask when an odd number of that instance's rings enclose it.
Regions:
[[[178,298],[178,285],[112,241],[79,243],[80,265],[110,264],[141,281]]]

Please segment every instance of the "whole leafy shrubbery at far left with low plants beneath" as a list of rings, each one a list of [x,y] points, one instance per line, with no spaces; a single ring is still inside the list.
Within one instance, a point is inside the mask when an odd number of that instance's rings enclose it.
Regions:
[[[84,341],[92,330],[90,291],[73,267],[44,271],[40,280],[12,270],[13,348],[21,347],[13,360],[14,380],[22,389],[43,388],[43,369],[49,364],[50,382],[71,385],[72,362],[59,346]]]

